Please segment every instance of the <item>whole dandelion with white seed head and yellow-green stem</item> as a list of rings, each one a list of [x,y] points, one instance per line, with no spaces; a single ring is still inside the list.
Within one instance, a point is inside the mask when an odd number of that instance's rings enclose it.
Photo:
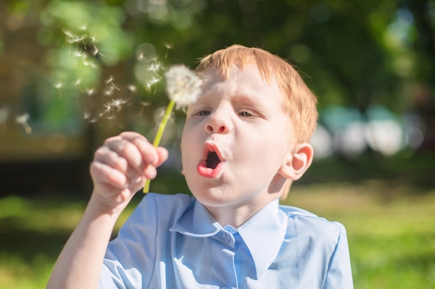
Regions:
[[[165,73],[166,92],[170,98],[170,103],[167,105],[163,119],[158,125],[156,137],[153,141],[153,146],[157,147],[163,136],[167,121],[170,119],[170,114],[174,110],[174,106],[182,108],[194,103],[201,93],[202,79],[197,74],[190,70],[185,65],[174,65]],[[144,193],[149,191],[149,179],[145,182],[143,189]]]

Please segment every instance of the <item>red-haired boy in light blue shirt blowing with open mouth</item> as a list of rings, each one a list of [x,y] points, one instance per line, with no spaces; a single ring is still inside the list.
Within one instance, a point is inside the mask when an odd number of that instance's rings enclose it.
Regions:
[[[279,206],[313,159],[315,96],[261,49],[216,51],[197,71],[204,87],[181,138],[194,198],[148,194],[108,245],[117,217],[167,159],[140,134],[108,139],[47,288],[353,288],[344,227]]]

